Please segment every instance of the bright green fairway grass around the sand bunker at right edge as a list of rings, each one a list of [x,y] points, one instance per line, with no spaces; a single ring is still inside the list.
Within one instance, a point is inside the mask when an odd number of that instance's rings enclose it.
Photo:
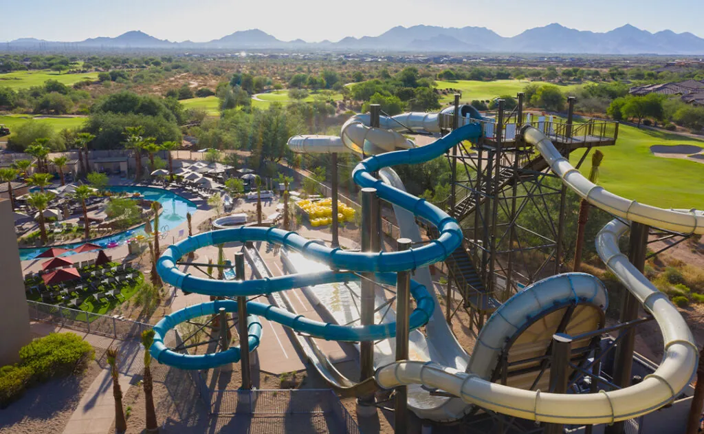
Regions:
[[[704,141],[678,135],[619,126],[616,146],[600,147],[604,159],[599,168],[598,184],[605,189],[662,208],[704,208],[704,164],[684,159],[664,159],[650,153],[653,144],[693,144],[704,147]],[[572,154],[576,164],[584,151]],[[580,171],[591,168],[587,157]]]

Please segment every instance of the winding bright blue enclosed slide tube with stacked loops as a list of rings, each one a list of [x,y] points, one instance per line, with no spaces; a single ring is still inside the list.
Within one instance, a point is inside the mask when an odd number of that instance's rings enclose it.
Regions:
[[[210,280],[197,278],[189,273],[180,271],[176,263],[185,254],[193,252],[200,247],[206,247],[225,242],[256,242],[265,241],[279,244],[294,251],[329,264],[336,270],[353,270],[357,272],[382,273],[379,278],[382,282],[395,284],[395,275],[384,275],[383,273],[394,273],[396,271],[413,270],[431,263],[442,261],[462,242],[462,231],[456,221],[448,216],[444,211],[433,204],[419,199],[406,192],[383,185],[374,178],[370,172],[378,171],[386,166],[394,166],[403,163],[420,163],[428,161],[444,154],[455,144],[463,140],[477,139],[481,134],[481,128],[477,124],[466,125],[463,128],[454,130],[450,134],[436,140],[433,144],[417,149],[396,151],[384,154],[383,156],[370,157],[362,161],[353,171],[354,180],[361,187],[377,187],[377,195],[392,204],[412,211],[415,215],[425,218],[430,223],[436,225],[440,236],[434,242],[421,247],[406,250],[404,252],[347,252],[335,248],[330,249],[318,242],[306,240],[306,238],[294,232],[288,232],[277,228],[232,228],[216,230],[188,237],[177,244],[168,247],[160,256],[157,263],[157,271],[161,278],[170,285],[180,287],[182,290],[197,292],[199,294],[213,295],[219,297],[237,297],[255,294],[269,294],[271,292],[290,290],[296,287],[321,285],[324,283],[343,282],[353,280],[354,273],[342,273],[337,271],[325,271],[319,273],[284,275],[276,278],[263,280]],[[429,297],[427,290],[420,284],[413,283],[413,294],[417,296],[417,309],[414,311],[412,321],[417,328],[425,324],[434,310],[434,299]],[[366,325],[361,327],[339,326],[325,323],[316,323],[302,316],[293,316],[290,312],[279,311],[276,308],[267,306],[257,307],[256,303],[248,302],[249,311],[287,325],[294,330],[300,330],[316,337],[329,340],[378,340],[383,337],[395,335],[395,323]],[[213,358],[206,355],[187,356],[176,354],[163,345],[165,332],[175,326],[180,319],[187,320],[195,316],[213,314],[216,311],[215,304],[204,304],[198,308],[191,306],[182,311],[177,311],[167,318],[164,318],[155,327],[155,343],[150,351],[152,355],[163,363],[172,364],[180,368],[203,368],[214,367],[228,361],[234,361],[235,351],[227,353],[225,356]],[[234,305],[236,306],[236,305]],[[233,309],[233,305],[223,306],[226,309]],[[236,308],[235,308],[236,309]],[[293,316],[293,318],[291,318]],[[257,338],[258,339],[258,338]],[[215,354],[217,356],[217,354]]]

